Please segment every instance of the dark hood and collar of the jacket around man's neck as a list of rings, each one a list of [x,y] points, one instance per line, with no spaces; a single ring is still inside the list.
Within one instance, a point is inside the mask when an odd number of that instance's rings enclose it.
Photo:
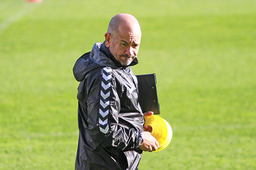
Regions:
[[[131,62],[130,65],[123,66],[117,61],[109,48],[105,46],[105,42],[97,42],[93,45],[92,51],[82,55],[73,67],[74,77],[78,82],[81,82],[88,72],[101,67],[111,68],[126,68],[138,63],[137,57]]]

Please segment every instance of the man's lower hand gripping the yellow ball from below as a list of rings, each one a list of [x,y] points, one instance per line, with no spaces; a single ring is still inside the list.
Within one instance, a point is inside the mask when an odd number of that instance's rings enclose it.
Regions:
[[[143,151],[152,152],[157,150],[159,143],[150,132],[143,132],[143,142],[140,144],[139,148]]]

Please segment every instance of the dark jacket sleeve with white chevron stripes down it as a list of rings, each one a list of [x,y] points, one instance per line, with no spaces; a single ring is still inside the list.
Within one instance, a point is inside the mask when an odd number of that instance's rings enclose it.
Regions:
[[[94,72],[94,71],[93,71]],[[142,132],[119,124],[122,85],[112,69],[102,68],[86,79],[88,133],[102,147],[129,150],[138,147]]]

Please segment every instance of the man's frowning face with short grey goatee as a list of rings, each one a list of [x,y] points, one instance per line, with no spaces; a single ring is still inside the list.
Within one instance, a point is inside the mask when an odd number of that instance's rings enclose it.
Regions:
[[[116,35],[111,35],[109,50],[122,65],[129,65],[137,57],[140,39],[141,33],[139,31],[128,31],[125,29],[120,31],[119,29]]]

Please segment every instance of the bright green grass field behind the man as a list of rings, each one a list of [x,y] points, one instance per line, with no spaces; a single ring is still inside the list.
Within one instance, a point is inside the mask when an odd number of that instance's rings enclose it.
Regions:
[[[140,170],[255,170],[255,0],[0,0],[0,170],[74,169],[72,68],[118,13],[140,21],[133,71],[156,73],[173,128]]]

